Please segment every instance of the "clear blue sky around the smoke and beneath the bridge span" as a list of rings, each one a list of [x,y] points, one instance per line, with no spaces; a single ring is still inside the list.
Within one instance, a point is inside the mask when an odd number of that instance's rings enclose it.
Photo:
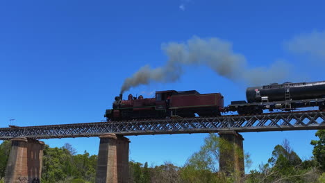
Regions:
[[[170,57],[162,47],[186,46],[194,36],[222,40],[231,54],[242,56],[243,69],[281,76],[274,82],[324,80],[324,7],[324,1],[1,1],[0,127],[8,127],[9,119],[20,126],[101,121],[126,78],[147,64],[164,66]],[[269,69],[275,62],[286,69]],[[197,89],[222,92],[228,105],[245,99],[247,86],[206,64],[188,64],[176,82],[151,83],[126,94]],[[242,135],[253,168],[267,162],[285,138],[308,158],[315,139],[314,130]],[[206,136],[129,137],[130,157],[181,166]],[[45,142],[71,143],[78,153],[97,154],[99,147],[98,138]]]

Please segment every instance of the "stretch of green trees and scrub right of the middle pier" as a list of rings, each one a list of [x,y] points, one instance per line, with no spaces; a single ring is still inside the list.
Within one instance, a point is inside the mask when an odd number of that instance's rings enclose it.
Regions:
[[[274,147],[272,157],[267,164],[261,164],[258,170],[250,171],[241,180],[238,174],[226,175],[219,173],[219,147],[229,146],[215,134],[210,134],[205,139],[199,152],[194,153],[183,167],[176,167],[166,162],[164,165],[148,168],[147,164],[131,162],[131,182],[136,183],[185,183],[185,182],[325,182],[324,155],[325,155],[325,130],[318,130],[316,136],[319,140],[312,141],[315,146],[312,159],[301,160],[292,150],[288,140]],[[238,155],[242,152],[238,152]],[[251,164],[249,154],[244,155],[245,166]]]

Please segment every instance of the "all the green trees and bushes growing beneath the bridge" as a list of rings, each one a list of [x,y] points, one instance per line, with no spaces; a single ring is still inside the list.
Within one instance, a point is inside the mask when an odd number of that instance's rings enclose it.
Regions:
[[[201,149],[194,153],[184,166],[178,167],[170,162],[160,166],[148,166],[148,163],[130,162],[129,182],[134,183],[183,183],[183,182],[325,182],[325,130],[316,132],[318,140],[311,141],[314,146],[313,157],[302,160],[292,150],[285,139],[281,145],[274,147],[272,157],[267,164],[261,164],[258,170],[250,171],[239,178],[238,173],[226,175],[219,172],[219,148],[229,146],[215,134],[204,140]],[[229,146],[230,147],[230,146]],[[0,182],[4,177],[10,141],[0,144]],[[235,149],[242,155],[240,149]],[[251,159],[245,153],[245,166]],[[86,151],[80,155],[69,144],[61,148],[45,146],[42,182],[94,182],[96,175],[97,155],[89,155]],[[2,180],[3,181],[3,180]]]

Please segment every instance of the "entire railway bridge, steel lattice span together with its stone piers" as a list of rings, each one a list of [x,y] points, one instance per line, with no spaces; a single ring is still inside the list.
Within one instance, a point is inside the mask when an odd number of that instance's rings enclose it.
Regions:
[[[128,182],[128,143],[125,136],[144,134],[218,133],[243,149],[239,132],[325,129],[325,112],[278,112],[258,115],[110,121],[64,125],[0,128],[0,139],[12,141],[5,182],[38,182],[44,143],[39,139],[99,137],[96,182]],[[220,171],[244,172],[244,159],[234,150],[220,150]],[[232,162],[231,166],[227,162]]]

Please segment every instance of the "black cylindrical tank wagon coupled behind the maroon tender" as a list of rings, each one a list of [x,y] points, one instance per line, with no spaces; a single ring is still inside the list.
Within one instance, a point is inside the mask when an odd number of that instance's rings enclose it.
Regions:
[[[325,81],[273,83],[246,90],[247,101],[233,101],[228,111],[238,114],[261,114],[263,110],[292,111],[301,107],[325,109]]]

